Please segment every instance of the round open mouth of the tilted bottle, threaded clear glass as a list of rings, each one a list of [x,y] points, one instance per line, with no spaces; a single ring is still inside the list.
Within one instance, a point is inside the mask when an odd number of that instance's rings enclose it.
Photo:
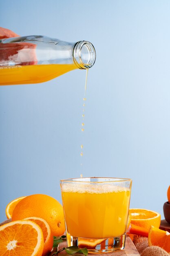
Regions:
[[[90,68],[96,60],[95,47],[88,41],[79,41],[73,47],[72,57],[79,69]]]

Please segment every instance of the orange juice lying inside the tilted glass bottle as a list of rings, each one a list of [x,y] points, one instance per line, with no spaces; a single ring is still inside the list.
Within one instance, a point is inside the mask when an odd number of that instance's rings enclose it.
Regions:
[[[42,83],[76,68],[74,64],[0,67],[0,85]]]

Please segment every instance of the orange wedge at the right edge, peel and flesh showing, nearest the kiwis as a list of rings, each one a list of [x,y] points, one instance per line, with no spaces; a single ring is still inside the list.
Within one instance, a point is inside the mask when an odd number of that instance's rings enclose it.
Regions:
[[[149,246],[159,246],[170,254],[170,233],[151,226],[148,234],[148,244]]]

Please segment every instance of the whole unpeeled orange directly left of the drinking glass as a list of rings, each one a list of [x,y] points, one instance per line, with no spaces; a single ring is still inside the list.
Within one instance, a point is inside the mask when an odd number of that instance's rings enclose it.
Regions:
[[[39,217],[46,220],[51,227],[53,236],[64,234],[63,207],[49,195],[29,195],[15,206],[12,220],[22,220],[28,217]]]

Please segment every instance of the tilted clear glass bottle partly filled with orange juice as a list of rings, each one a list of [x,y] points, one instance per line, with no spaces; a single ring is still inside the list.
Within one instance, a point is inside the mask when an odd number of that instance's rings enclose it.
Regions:
[[[46,36],[0,40],[0,85],[41,83],[68,71],[95,63],[95,48],[88,41],[68,43]]]

